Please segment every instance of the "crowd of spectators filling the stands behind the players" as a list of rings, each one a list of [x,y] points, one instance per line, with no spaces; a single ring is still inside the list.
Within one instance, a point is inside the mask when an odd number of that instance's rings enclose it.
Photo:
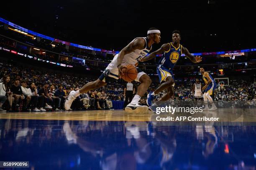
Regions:
[[[2,105],[9,111],[45,111],[47,109],[63,110],[64,100],[69,91],[77,90],[84,84],[97,78],[76,77],[69,74],[56,74],[39,69],[13,66],[10,63],[0,63],[0,108]],[[194,79],[176,79],[174,87],[175,100],[193,100],[192,85]],[[133,81],[135,87],[138,82]],[[73,109],[113,109],[112,100],[123,101],[125,84],[113,79],[106,86],[81,94]],[[154,91],[159,82],[152,82],[148,89]],[[159,99],[165,91],[159,93]],[[230,80],[229,86],[217,88],[214,92],[215,100],[256,100],[256,82]],[[146,95],[141,98],[140,104],[146,104]],[[21,102],[23,101],[23,102]],[[22,108],[19,108],[22,105]],[[2,109],[3,110],[3,109]]]

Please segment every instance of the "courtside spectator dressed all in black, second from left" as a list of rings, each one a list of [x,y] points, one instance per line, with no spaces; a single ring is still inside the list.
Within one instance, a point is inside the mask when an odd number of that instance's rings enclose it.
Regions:
[[[22,90],[21,90],[20,79],[19,78],[16,78],[14,80],[14,84],[11,87],[11,91],[13,92],[13,97],[14,97],[13,104],[15,106],[15,111],[18,111],[17,104],[20,100],[24,99],[24,95],[23,95]]]

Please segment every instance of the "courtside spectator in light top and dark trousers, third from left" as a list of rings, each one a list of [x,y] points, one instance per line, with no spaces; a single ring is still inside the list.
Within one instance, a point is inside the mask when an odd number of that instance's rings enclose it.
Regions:
[[[24,98],[26,99],[24,111],[30,112],[32,110],[33,112],[40,112],[40,110],[37,108],[38,96],[33,95],[33,93],[31,92],[31,89],[27,88],[26,80],[21,81],[21,90],[25,96]],[[30,101],[31,101],[31,109],[28,108]]]

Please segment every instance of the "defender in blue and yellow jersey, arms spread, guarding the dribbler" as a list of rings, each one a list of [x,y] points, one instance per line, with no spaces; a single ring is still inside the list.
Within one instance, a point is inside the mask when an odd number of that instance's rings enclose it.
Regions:
[[[172,42],[166,43],[161,46],[158,50],[148,55],[146,58],[141,59],[141,61],[147,61],[152,58],[155,58],[157,54],[163,54],[161,60],[159,61],[159,65],[157,67],[157,74],[159,76],[159,81],[162,83],[154,92],[148,94],[147,104],[148,106],[152,105],[152,101],[154,100],[154,96],[164,89],[167,90],[167,93],[159,99],[159,101],[166,101],[170,99],[174,95],[174,76],[173,76],[173,68],[175,64],[179,61],[179,58],[182,57],[184,53],[187,58],[189,58],[193,63],[199,63],[202,61],[202,57],[193,56],[187,48],[183,47],[180,41],[180,32],[178,30],[174,30],[172,32]],[[164,83],[163,83],[164,82]]]

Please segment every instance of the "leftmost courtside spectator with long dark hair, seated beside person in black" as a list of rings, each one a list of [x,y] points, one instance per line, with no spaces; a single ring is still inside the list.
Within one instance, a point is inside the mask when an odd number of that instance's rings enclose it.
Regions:
[[[2,90],[5,91],[5,96],[8,99],[9,106],[10,106],[9,111],[12,111],[14,99],[13,99],[13,93],[10,91],[10,76],[3,77]]]

